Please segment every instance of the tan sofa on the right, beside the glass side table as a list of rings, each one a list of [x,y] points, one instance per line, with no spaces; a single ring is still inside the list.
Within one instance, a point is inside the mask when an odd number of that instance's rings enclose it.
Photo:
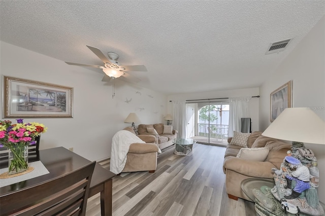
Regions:
[[[232,137],[228,139],[231,142]],[[248,148],[268,147],[269,153],[264,161],[254,161],[236,157],[243,147],[228,144],[223,161],[223,172],[225,173],[225,186],[228,197],[237,200],[238,197],[250,199],[242,192],[241,182],[246,178],[268,178],[273,179],[272,168],[280,168],[287,151],[291,149],[291,144],[279,141],[274,138],[262,135],[262,132],[253,132],[248,137]],[[251,151],[258,154],[258,151]]]

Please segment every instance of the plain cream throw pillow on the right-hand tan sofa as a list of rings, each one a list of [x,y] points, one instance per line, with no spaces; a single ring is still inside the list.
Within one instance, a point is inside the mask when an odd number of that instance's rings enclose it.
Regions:
[[[252,161],[265,161],[270,152],[270,148],[241,148],[237,154],[238,158]]]

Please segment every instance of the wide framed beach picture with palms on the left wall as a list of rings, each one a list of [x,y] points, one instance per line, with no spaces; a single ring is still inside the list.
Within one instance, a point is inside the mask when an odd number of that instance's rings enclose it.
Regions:
[[[73,88],[3,76],[3,118],[72,118]]]

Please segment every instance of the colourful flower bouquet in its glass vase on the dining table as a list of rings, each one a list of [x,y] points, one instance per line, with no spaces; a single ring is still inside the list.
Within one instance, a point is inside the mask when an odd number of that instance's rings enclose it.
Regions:
[[[9,160],[9,173],[27,169],[25,151],[29,145],[35,144],[35,138],[46,130],[47,127],[43,124],[23,123],[23,119],[17,119],[17,124],[8,120],[0,121],[0,147],[7,147],[13,156]]]

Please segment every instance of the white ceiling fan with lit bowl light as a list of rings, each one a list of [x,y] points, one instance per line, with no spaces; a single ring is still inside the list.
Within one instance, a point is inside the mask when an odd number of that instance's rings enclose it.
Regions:
[[[123,79],[124,77],[126,79],[125,81],[138,83],[140,79],[127,74],[126,71],[147,71],[147,68],[144,65],[125,65],[125,66],[120,65],[119,62],[116,61],[118,59],[118,55],[116,53],[109,52],[108,53],[109,59],[108,59],[100,49],[88,45],[86,46],[104,62],[104,66],[72,63],[67,61],[65,62],[70,65],[96,67],[96,68],[103,69],[104,73],[106,74],[102,80],[103,82],[109,82],[119,77]]]

